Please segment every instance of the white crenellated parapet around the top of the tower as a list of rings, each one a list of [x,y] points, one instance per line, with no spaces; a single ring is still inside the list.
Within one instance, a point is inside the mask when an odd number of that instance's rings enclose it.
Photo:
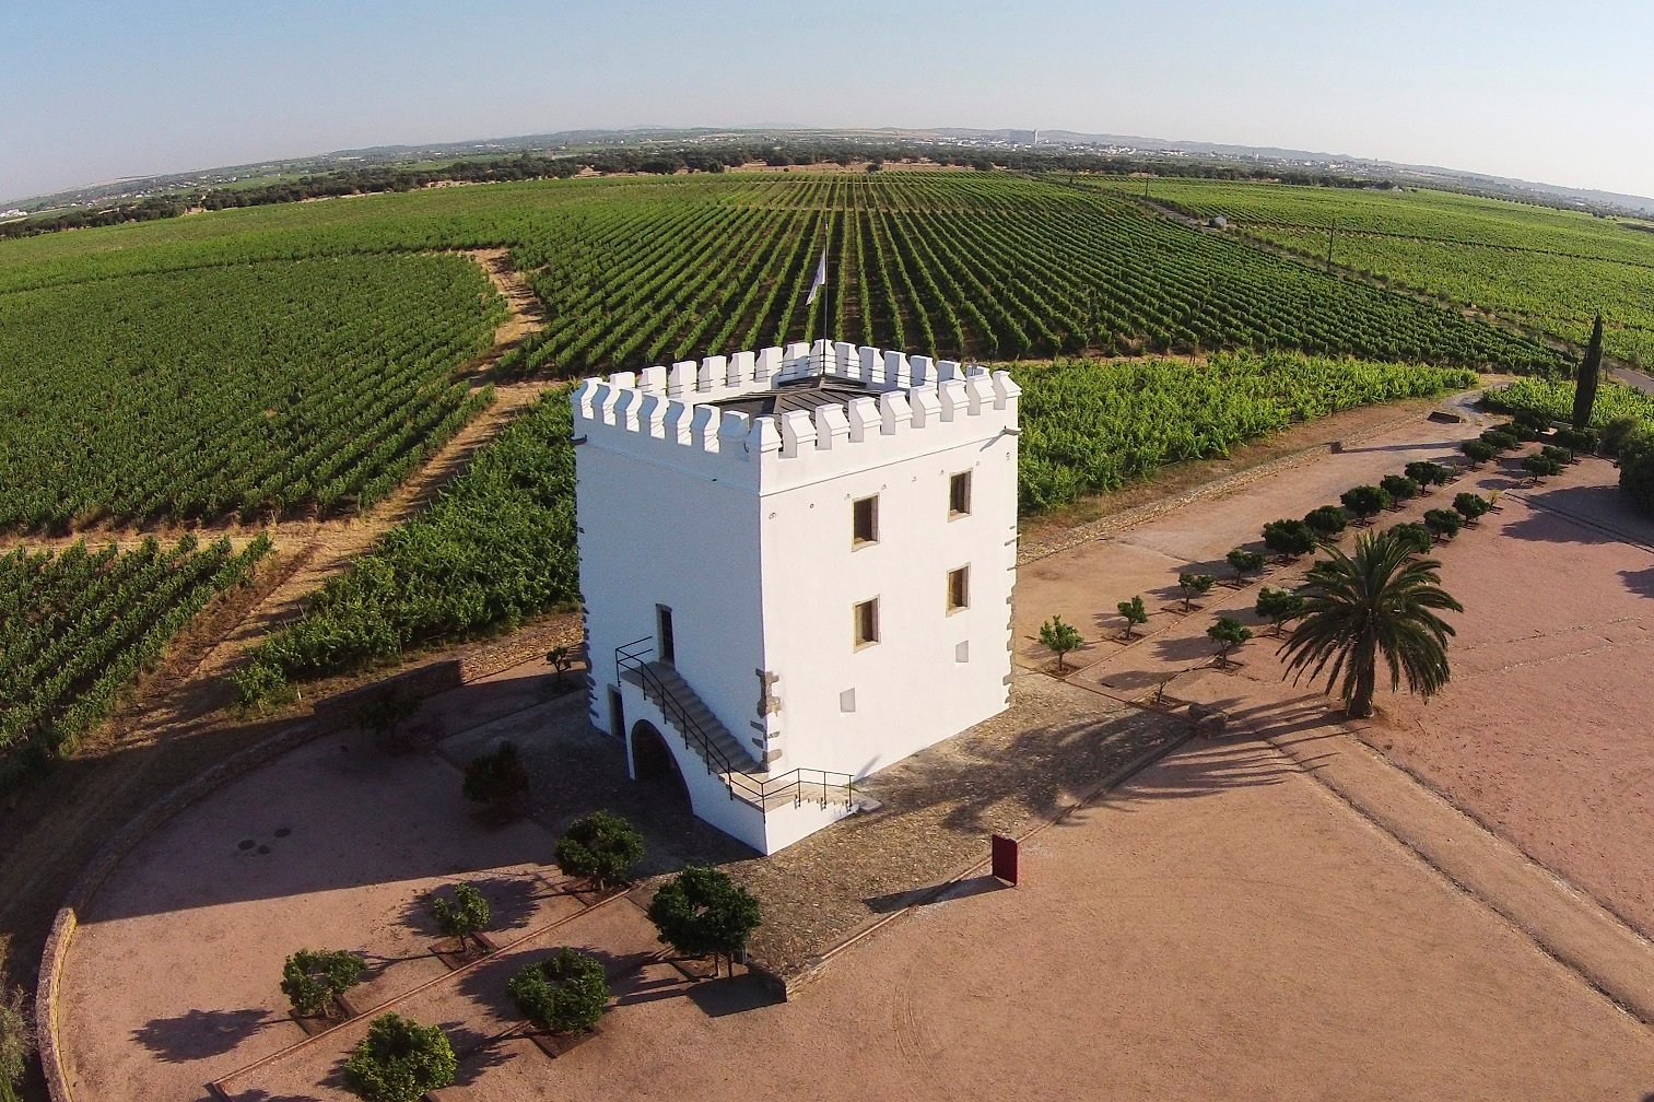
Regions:
[[[586,379],[574,437],[751,491],[804,485],[1016,434],[1009,372],[872,347],[792,344]],[[820,372],[873,394],[814,410],[748,415],[721,400]]]

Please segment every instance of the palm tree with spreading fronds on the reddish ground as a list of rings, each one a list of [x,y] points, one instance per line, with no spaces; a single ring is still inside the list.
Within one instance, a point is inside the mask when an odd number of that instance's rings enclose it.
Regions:
[[[1328,554],[1310,571],[1303,619],[1280,649],[1293,682],[1305,672],[1315,680],[1330,665],[1328,690],[1338,685],[1350,715],[1368,716],[1383,654],[1391,690],[1406,677],[1411,692],[1439,692],[1454,630],[1436,611],[1464,612],[1441,587],[1441,563],[1414,558],[1389,531],[1363,533],[1353,556],[1338,548]]]

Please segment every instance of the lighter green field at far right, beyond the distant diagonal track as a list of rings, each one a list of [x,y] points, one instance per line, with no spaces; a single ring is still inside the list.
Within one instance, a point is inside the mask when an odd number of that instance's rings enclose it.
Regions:
[[[1125,185],[1121,185],[1125,187]],[[1446,192],[1156,180],[1153,202],[1224,215],[1240,232],[1398,286],[1474,304],[1583,344],[1604,316],[1604,346],[1654,364],[1654,235],[1583,212]]]

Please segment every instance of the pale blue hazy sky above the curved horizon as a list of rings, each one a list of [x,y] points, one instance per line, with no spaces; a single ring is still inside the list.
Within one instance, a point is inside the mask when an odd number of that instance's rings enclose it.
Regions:
[[[648,124],[1072,129],[1654,197],[1654,2],[0,0],[0,199]]]

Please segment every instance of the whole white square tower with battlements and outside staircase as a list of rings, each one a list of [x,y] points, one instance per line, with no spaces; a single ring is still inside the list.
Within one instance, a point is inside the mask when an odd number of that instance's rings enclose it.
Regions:
[[[592,721],[772,854],[1006,708],[1017,386],[817,341],[572,395]]]

